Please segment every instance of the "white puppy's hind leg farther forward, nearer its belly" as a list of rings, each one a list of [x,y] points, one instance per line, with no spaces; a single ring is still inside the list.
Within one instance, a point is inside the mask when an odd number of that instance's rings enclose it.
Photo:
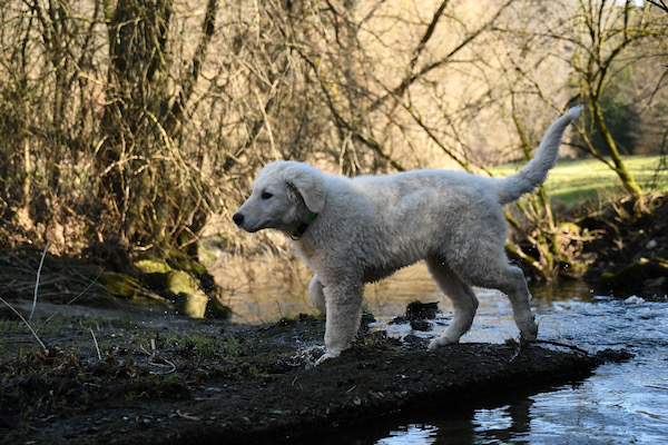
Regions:
[[[445,263],[439,258],[428,258],[425,263],[439,288],[453,305],[452,323],[440,337],[434,338],[429,345],[430,349],[435,349],[458,343],[460,337],[471,328],[478,309],[478,298],[471,286],[462,281]]]

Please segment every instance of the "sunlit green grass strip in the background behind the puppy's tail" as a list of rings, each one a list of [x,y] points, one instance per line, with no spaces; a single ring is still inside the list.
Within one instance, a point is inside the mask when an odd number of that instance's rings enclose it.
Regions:
[[[623,161],[644,191],[668,191],[668,170],[657,171],[660,156],[630,156],[625,157]],[[492,171],[494,176],[505,177],[517,172],[524,164],[503,164],[493,167]],[[567,207],[625,195],[618,176],[603,162],[591,158],[558,160],[557,167],[548,176],[546,188],[552,204],[563,204]]]

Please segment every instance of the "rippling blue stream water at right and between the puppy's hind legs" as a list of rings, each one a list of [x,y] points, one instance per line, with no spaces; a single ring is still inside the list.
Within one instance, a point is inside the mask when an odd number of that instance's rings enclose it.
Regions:
[[[492,297],[494,299],[494,297]],[[510,306],[481,308],[462,342],[515,336]],[[581,383],[512,395],[491,406],[449,409],[397,422],[358,444],[657,444],[668,442],[668,305],[619,301],[541,301],[540,338],[588,350],[626,348],[635,357],[607,364]],[[430,333],[435,334],[435,333]]]

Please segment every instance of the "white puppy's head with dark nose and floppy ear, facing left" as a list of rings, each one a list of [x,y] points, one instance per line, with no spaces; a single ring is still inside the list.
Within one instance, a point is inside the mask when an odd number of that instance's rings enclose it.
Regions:
[[[310,212],[325,206],[324,175],[306,164],[267,164],[253,182],[250,197],[234,214],[233,220],[254,233],[273,228],[292,233]]]

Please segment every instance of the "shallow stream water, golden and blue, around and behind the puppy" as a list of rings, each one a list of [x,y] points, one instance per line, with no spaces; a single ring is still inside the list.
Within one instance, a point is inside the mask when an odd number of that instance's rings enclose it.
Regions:
[[[237,296],[238,320],[271,320],[313,313],[306,295],[308,274],[291,293],[269,285],[254,294],[255,304]],[[272,287],[273,286],[273,287]],[[272,290],[273,289],[273,290]],[[615,300],[592,295],[581,285],[532,289],[539,337],[596,352],[626,348],[635,357],[607,364],[583,382],[539,394],[504,394],[478,405],[443,407],[340,432],[326,443],[365,444],[657,444],[668,443],[668,303],[641,298]],[[279,295],[279,299],[276,299]],[[480,308],[462,342],[503,343],[518,335],[508,299],[497,291],[477,289]],[[440,296],[424,267],[411,267],[377,285],[367,286],[366,306],[377,318],[372,328],[390,335],[411,334],[407,325],[389,325],[407,303],[439,301],[443,312],[429,333],[440,334],[450,306]],[[232,298],[230,298],[232,300]],[[258,301],[258,303],[257,303]],[[245,308],[242,313],[239,308]],[[272,310],[273,308],[273,310]],[[257,319],[253,314],[259,314]]]

